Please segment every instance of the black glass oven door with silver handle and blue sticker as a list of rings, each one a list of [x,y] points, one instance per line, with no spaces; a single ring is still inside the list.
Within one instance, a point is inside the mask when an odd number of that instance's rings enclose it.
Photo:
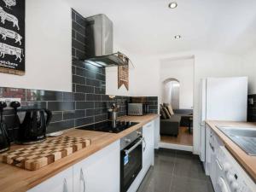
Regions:
[[[143,138],[139,137],[120,153],[120,191],[125,192],[143,168]]]

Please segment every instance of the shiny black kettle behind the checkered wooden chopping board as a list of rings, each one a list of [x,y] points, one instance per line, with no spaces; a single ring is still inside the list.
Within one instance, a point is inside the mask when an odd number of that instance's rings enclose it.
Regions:
[[[52,113],[48,109],[15,108],[15,113],[25,113],[25,118],[19,125],[18,136],[15,140],[16,143],[32,144],[45,140],[46,127],[52,118]]]

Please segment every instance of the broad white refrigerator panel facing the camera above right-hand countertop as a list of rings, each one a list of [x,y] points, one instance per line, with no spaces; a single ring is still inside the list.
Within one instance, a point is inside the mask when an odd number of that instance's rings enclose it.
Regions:
[[[247,120],[247,77],[207,79],[207,117]]]

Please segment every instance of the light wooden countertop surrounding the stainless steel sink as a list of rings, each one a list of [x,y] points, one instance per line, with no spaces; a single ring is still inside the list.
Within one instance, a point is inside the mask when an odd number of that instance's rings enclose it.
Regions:
[[[224,133],[216,126],[231,126],[231,127],[251,127],[256,129],[256,123],[247,122],[230,122],[230,121],[216,121],[207,120],[207,125],[209,125],[212,130],[220,137],[223,141],[225,147],[230,151],[230,153],[235,157],[239,164],[244,168],[244,170],[253,178],[256,182],[256,156],[250,156],[246,154],[236,143],[233,143],[229,137],[225,136]]]

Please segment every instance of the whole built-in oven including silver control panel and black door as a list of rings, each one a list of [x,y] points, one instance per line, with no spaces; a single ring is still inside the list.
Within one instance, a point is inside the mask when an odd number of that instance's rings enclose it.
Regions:
[[[143,129],[120,140],[120,191],[126,192],[143,168]]]

